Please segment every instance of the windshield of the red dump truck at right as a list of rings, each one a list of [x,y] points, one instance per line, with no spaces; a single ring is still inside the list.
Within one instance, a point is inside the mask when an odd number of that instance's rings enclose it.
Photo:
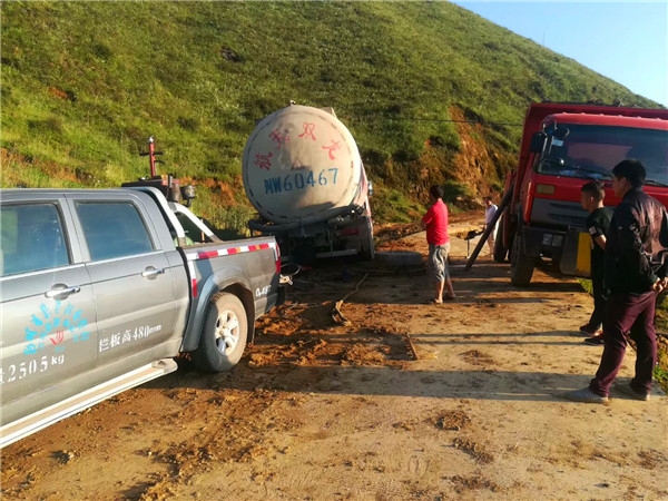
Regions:
[[[550,139],[537,171],[611,179],[619,161],[637,158],[647,169],[647,185],[668,186],[668,131],[581,124],[560,124],[559,130],[560,135],[548,130]]]

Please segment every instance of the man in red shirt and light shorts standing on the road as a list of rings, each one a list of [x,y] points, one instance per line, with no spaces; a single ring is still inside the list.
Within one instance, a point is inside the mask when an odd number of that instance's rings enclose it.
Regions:
[[[448,272],[448,254],[450,253],[450,236],[448,235],[448,206],[443,203],[443,187],[434,185],[429,189],[430,207],[422,217],[420,226],[426,229],[429,244],[429,268],[435,281],[435,295],[431,304],[442,304],[443,298],[454,299],[454,289]],[[443,289],[446,295],[443,297]]]

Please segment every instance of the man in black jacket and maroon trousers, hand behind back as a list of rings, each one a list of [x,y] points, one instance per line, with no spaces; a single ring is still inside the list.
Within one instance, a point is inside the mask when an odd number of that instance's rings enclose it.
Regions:
[[[603,320],[603,354],[588,387],[567,393],[576,402],[608,402],[610,386],[621,367],[628,338],[636,342],[636,373],[629,384],[615,387],[647,401],[657,362],[655,302],[668,285],[668,214],[642,190],[645,167],[636,159],[612,169],[612,189],[621,203],[612,214],[605,253],[605,282],[609,291]]]

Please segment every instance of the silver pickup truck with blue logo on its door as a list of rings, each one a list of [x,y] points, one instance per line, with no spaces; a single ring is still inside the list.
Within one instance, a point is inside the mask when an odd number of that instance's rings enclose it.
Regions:
[[[177,369],[242,357],[283,301],[273,237],[223,242],[156,188],[0,190],[0,446]]]

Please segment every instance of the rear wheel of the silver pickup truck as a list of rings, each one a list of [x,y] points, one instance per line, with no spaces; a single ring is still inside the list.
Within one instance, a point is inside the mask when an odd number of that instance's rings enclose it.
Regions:
[[[248,321],[239,298],[229,293],[216,294],[209,302],[193,362],[203,371],[228,371],[242,358],[247,337]]]

